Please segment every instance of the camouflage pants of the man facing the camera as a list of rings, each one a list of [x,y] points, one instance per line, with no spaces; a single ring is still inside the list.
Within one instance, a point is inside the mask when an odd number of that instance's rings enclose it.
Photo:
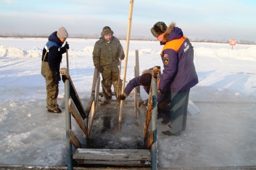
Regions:
[[[104,69],[103,73],[101,73],[101,76],[102,76],[101,85],[102,85],[102,92],[104,97],[112,98],[112,95],[111,95],[112,84],[114,86],[115,94],[117,95],[117,91],[118,91],[118,95],[121,95],[123,83],[120,80],[119,88],[118,88],[118,80],[120,79],[120,77],[118,77],[119,68],[116,66],[116,67],[103,67],[103,69]]]

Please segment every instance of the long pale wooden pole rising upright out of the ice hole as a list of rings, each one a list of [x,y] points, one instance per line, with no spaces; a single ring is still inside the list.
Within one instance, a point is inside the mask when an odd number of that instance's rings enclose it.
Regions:
[[[126,77],[126,68],[127,68],[127,61],[128,61],[128,52],[129,52],[130,34],[131,34],[131,25],[132,25],[132,10],[133,10],[133,0],[130,0],[130,10],[129,10],[129,18],[128,18],[128,30],[127,30],[127,39],[126,39],[126,48],[125,48],[125,59],[124,59],[124,78],[123,78],[122,94],[124,93],[124,88],[125,88],[125,77]],[[123,103],[124,103],[124,101],[121,100],[119,122],[122,121]]]

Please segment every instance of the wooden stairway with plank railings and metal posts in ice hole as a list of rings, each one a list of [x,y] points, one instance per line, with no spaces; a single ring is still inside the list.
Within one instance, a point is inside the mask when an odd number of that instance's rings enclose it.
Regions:
[[[136,66],[134,67],[135,77],[139,76],[139,55],[138,50],[136,53]],[[130,94],[134,96],[133,100],[126,100],[124,103],[128,106],[134,106],[135,115],[139,123],[139,131],[142,132],[142,140],[144,141],[144,149],[88,149],[89,139],[91,136],[95,115],[99,110],[106,110],[108,114],[114,114],[115,112],[109,112],[111,109],[109,106],[116,104],[111,103],[106,105],[108,108],[102,108],[105,105],[101,105],[99,96],[103,96],[100,93],[100,73],[97,68],[94,68],[93,82],[91,96],[86,108],[84,109],[82,102],[76,92],[75,86],[71,80],[71,77],[66,68],[60,69],[62,74],[62,80],[65,84],[65,107],[66,110],[66,136],[67,136],[67,160],[68,169],[71,170],[74,166],[104,166],[104,167],[129,167],[129,168],[148,168],[152,170],[157,169],[157,81],[159,78],[160,67],[154,66],[148,106],[138,107],[138,103],[142,101],[140,96],[140,87],[134,89],[134,93]],[[115,95],[114,93],[112,95]],[[129,102],[128,102],[129,101]],[[113,100],[116,103],[116,100]],[[130,107],[131,108],[131,107]],[[132,110],[130,109],[129,110]],[[121,106],[120,106],[121,109]],[[123,108],[122,108],[123,109]],[[116,109],[119,111],[119,109]],[[142,110],[144,119],[140,117],[140,111]],[[71,130],[71,115],[76,120],[76,123],[84,133],[84,145],[76,137],[75,133]],[[115,115],[117,116],[117,115]],[[119,116],[120,120],[120,116]],[[119,121],[120,131],[120,121]],[[109,135],[108,135],[109,137]],[[93,140],[92,140],[93,141]],[[72,154],[72,145],[76,147],[75,152]],[[84,149],[84,147],[86,149]],[[105,148],[103,146],[102,148]],[[73,160],[72,160],[73,159]]]

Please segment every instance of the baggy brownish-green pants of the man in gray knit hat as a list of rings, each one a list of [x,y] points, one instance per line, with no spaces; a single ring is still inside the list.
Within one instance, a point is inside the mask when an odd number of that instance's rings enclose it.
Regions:
[[[41,74],[44,76],[46,83],[47,108],[54,108],[57,106],[57,97],[59,94],[59,81],[56,80],[55,76],[52,74],[48,62],[42,61]]]

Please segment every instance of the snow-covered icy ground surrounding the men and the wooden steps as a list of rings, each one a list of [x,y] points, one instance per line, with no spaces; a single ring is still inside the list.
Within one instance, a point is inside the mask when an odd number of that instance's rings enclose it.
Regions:
[[[91,92],[96,40],[67,39],[69,73],[83,99]],[[0,38],[0,164],[66,165],[65,110],[54,114],[45,108],[46,89],[40,68],[46,42],[45,38]],[[125,50],[126,41],[121,43]],[[237,44],[231,50],[229,44],[192,45],[199,83],[190,90],[190,99],[200,112],[188,114],[186,131],[180,137],[161,135],[168,127],[158,120],[158,167],[255,166],[256,46]],[[141,74],[144,69],[163,65],[161,49],[157,41],[130,41],[126,81],[134,75],[135,50],[139,50]],[[61,67],[66,67],[66,54]],[[59,89],[59,97],[63,97],[62,81]],[[106,136],[109,147],[140,143],[140,136],[132,131],[131,117],[124,118],[123,133]],[[104,130],[104,120],[104,114],[100,114],[100,131]],[[82,138],[73,118],[72,129]]]

